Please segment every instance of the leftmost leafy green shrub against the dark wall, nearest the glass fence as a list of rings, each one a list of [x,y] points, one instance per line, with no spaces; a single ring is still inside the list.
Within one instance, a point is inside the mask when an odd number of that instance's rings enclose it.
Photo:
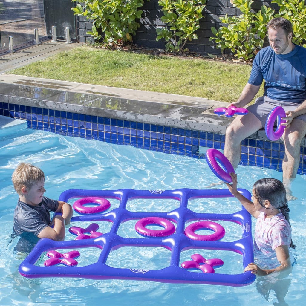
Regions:
[[[144,0],[72,0],[77,2],[72,8],[74,15],[85,16],[92,20],[91,31],[87,34],[107,44],[124,45],[132,41],[132,35],[140,27],[136,19],[143,13],[139,10]],[[80,5],[84,3],[84,7]]]

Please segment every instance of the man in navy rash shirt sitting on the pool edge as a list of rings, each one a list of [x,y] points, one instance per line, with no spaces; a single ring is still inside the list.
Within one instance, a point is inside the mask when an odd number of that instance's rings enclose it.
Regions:
[[[248,106],[248,114],[237,116],[226,130],[224,155],[236,168],[240,161],[241,141],[265,126],[275,106],[286,112],[282,139],[285,155],[282,163],[283,183],[291,195],[290,182],[296,177],[300,162],[300,145],[306,134],[306,49],[292,43],[293,28],[283,17],[267,24],[269,47],[256,55],[250,78],[234,105],[244,107],[252,101],[265,80],[264,95]],[[228,106],[228,107],[229,107]]]

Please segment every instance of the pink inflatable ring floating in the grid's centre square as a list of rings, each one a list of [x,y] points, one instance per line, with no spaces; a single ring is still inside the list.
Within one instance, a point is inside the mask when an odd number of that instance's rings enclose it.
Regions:
[[[160,225],[164,227],[164,229],[163,230],[147,229],[146,226],[149,224]],[[164,218],[147,217],[147,218],[142,218],[136,222],[135,230],[137,233],[140,233],[140,235],[143,235],[143,236],[165,237],[165,236],[172,235],[175,232],[175,226],[173,225],[173,223],[171,223],[170,221]]]

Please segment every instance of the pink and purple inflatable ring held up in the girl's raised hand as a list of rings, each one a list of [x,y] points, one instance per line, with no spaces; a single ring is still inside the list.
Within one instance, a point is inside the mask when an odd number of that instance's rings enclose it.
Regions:
[[[225,157],[224,154],[222,154],[217,149],[208,149],[206,151],[206,161],[208,166],[211,168],[211,171],[222,181],[225,181],[227,183],[231,183],[232,177],[230,176],[231,172],[235,172],[232,164],[230,161]],[[218,162],[222,165],[219,166]]]

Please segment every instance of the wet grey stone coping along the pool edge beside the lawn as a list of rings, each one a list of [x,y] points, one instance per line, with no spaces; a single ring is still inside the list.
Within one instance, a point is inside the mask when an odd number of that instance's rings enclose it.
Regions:
[[[2,73],[1,102],[225,134],[233,120],[206,98],[107,87]],[[264,130],[249,138],[268,140]],[[303,141],[304,146],[305,141]]]

